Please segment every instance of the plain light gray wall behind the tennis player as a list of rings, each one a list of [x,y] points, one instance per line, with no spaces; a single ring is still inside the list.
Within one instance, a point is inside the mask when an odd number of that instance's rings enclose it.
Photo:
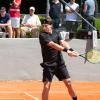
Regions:
[[[78,52],[85,52],[86,40],[72,40],[69,43]],[[72,80],[100,81],[100,64],[84,63],[84,59],[70,58],[65,53],[64,58]],[[38,39],[0,39],[0,80],[41,80],[40,62],[42,57]]]

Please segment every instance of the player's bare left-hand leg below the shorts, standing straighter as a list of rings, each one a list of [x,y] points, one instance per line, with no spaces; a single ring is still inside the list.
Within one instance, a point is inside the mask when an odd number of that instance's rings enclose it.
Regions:
[[[44,82],[42,100],[48,100],[51,82]]]

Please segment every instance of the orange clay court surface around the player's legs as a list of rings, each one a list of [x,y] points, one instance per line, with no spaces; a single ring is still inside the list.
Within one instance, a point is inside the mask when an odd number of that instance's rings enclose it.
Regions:
[[[41,81],[2,81],[0,100],[41,100]],[[78,100],[100,100],[100,82],[73,82]],[[62,82],[53,81],[49,100],[72,100]]]

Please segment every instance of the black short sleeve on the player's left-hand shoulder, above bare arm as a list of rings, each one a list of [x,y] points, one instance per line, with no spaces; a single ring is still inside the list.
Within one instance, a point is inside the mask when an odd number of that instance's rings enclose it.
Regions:
[[[41,44],[48,44],[50,41],[52,41],[47,33],[40,33],[39,40]]]

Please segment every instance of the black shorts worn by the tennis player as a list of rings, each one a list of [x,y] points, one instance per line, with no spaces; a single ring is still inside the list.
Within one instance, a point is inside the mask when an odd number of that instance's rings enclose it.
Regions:
[[[52,82],[54,75],[59,79],[59,81],[70,78],[65,64],[60,66],[45,66],[43,68],[43,82]]]

